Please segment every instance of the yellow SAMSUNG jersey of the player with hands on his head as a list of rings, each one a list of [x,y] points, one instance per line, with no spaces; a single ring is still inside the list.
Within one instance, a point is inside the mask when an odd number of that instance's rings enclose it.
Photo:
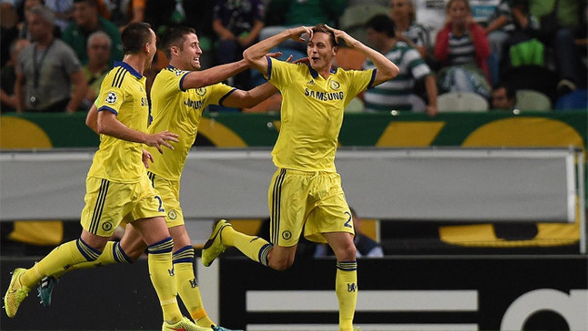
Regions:
[[[372,87],[376,69],[332,70],[325,80],[309,65],[268,57],[268,80],[282,92],[282,124],[273,147],[278,168],[335,172],[343,110]]]

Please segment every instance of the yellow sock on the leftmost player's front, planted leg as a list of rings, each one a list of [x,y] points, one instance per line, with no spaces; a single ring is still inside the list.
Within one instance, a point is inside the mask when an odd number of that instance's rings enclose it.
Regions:
[[[178,287],[175,278],[173,278],[172,248],[172,237],[147,247],[149,276],[151,276],[151,283],[159,297],[163,320],[168,323],[176,323],[182,319],[182,313],[176,300]]]

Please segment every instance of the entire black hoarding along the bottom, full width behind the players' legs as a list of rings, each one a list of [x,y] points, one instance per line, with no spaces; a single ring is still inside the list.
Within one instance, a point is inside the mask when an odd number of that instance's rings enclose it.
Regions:
[[[2,260],[1,273],[34,261],[25,259]],[[221,325],[337,329],[334,259],[298,259],[285,272],[242,257],[219,262],[197,269],[206,310]],[[586,256],[387,257],[358,266],[355,322],[363,331],[588,330]],[[141,259],[67,274],[51,306],[31,293],[14,319],[2,313],[2,330],[158,329],[147,269]],[[2,288],[9,280],[0,279]]]

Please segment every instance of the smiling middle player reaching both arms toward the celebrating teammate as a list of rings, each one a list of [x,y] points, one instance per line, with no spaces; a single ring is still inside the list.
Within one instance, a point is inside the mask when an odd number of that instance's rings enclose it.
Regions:
[[[237,90],[219,83],[248,68],[245,60],[196,71],[200,68],[199,58],[202,50],[198,36],[191,28],[170,29],[162,44],[170,62],[169,67],[159,72],[153,81],[151,88],[153,118],[148,130],[149,133],[171,130],[179,134],[179,142],[175,144],[173,150],[166,150],[159,157],[152,158],[151,153],[145,153],[145,158],[153,161],[150,165],[145,160],[145,166],[149,168],[148,176],[153,187],[159,191],[167,213],[167,226],[173,237],[173,269],[182,302],[196,321],[196,325],[207,327],[212,325],[215,331],[230,331],[215,325],[202,304],[198,282],[193,272],[194,250],[184,226],[182,208],[179,204],[180,179],[186,156],[196,138],[203,108],[209,104],[253,107],[278,90],[269,83],[249,91]],[[97,131],[97,114],[98,110],[94,105],[86,118],[86,124],[94,131]],[[155,152],[153,149],[151,151]],[[111,241],[107,245],[111,249],[118,247],[119,250],[116,254],[102,254],[92,263],[77,264],[68,271],[93,267],[97,264],[134,262],[145,251],[141,234],[132,226],[126,226],[125,235],[119,244]],[[52,276],[58,278],[63,273]],[[45,279],[44,282],[47,287],[46,289],[39,287],[39,294],[42,302],[48,305],[54,278]]]

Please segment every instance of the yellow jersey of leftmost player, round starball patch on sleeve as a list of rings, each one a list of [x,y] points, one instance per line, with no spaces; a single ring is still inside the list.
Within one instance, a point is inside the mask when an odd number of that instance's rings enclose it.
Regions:
[[[137,131],[147,131],[149,102],[145,77],[125,62],[115,62],[100,87],[98,111],[111,111],[116,119]],[[106,178],[119,183],[134,183],[145,176],[142,144],[100,135],[88,177]]]

